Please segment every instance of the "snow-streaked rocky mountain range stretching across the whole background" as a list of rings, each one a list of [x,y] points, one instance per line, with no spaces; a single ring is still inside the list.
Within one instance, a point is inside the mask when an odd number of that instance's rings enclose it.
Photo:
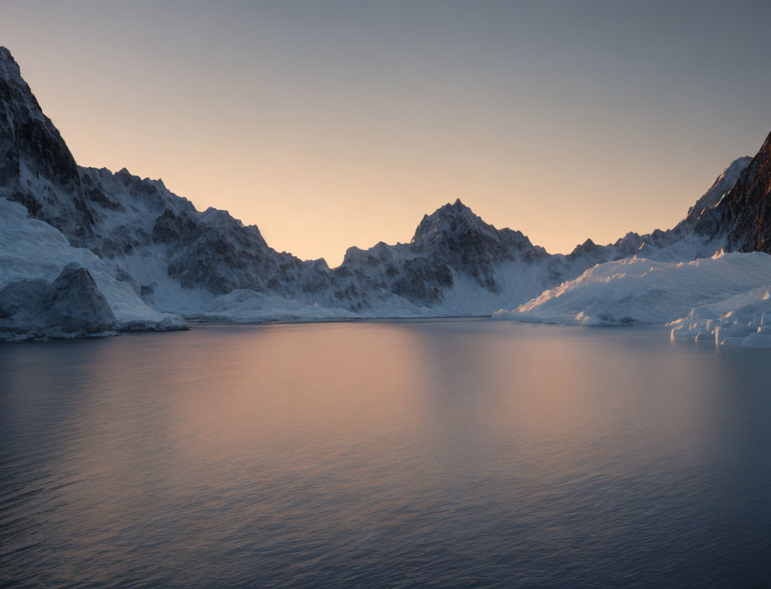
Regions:
[[[160,180],[140,179],[126,169],[78,166],[5,48],[0,48],[0,105],[0,197],[24,206],[29,221],[19,221],[10,205],[3,210],[17,224],[30,223],[35,235],[42,233],[32,219],[57,229],[69,247],[93,253],[98,259],[89,272],[107,273],[133,290],[131,303],[129,295],[121,295],[125,308],[141,305],[153,313],[210,321],[490,315],[595,264],[628,256],[672,262],[709,257],[720,248],[771,251],[766,212],[771,136],[757,156],[732,162],[673,229],[627,233],[606,246],[588,239],[568,255],[550,254],[519,231],[484,223],[457,200],[424,216],[409,243],[352,247],[341,266],[330,269],[323,259],[303,261],[277,252],[257,226],[244,226],[226,211],[197,211]],[[59,272],[74,256],[60,249]],[[56,278],[50,263],[35,273],[32,252],[29,272],[4,271],[19,267],[24,255],[0,240],[0,288],[19,279]],[[105,295],[115,309],[118,303]],[[8,327],[14,308],[0,293],[0,310],[5,309],[0,332],[6,329],[13,339],[48,333],[45,326],[26,333],[18,321]],[[164,321],[145,326],[180,325]]]

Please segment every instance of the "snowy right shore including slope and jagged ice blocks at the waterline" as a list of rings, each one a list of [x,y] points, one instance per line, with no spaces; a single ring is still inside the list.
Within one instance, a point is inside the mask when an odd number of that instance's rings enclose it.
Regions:
[[[771,256],[598,264],[493,319],[562,325],[671,325],[673,340],[771,347]]]

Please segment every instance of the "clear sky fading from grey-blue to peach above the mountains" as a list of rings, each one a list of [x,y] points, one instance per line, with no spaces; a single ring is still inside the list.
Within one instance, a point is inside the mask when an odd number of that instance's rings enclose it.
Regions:
[[[83,166],[340,263],[460,198],[550,252],[673,226],[771,131],[769,2],[0,2]]]

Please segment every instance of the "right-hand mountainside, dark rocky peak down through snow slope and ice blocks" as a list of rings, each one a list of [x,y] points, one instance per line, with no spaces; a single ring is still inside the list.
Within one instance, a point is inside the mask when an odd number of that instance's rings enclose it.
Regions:
[[[582,325],[674,322],[672,339],[771,347],[769,157],[771,136],[754,158],[733,162],[675,229],[660,232],[658,249],[641,246],[635,256],[599,263],[494,316]]]

